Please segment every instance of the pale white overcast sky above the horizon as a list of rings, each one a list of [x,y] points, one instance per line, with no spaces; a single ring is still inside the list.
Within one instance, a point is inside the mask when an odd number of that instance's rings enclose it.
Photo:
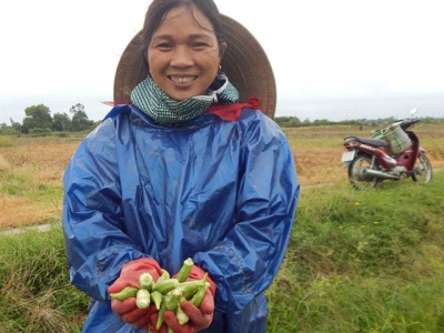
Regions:
[[[0,0],[0,123],[44,104],[101,120],[150,0]],[[444,118],[444,1],[215,0],[272,64],[275,117]]]

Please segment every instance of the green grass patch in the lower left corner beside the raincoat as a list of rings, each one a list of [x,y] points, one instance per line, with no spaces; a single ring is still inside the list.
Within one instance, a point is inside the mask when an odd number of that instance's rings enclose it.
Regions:
[[[80,332],[89,300],[68,283],[60,228],[1,235],[0,332]]]

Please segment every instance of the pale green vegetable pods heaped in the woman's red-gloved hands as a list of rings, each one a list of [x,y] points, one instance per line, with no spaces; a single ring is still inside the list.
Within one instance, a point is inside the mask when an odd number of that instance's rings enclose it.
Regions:
[[[210,287],[210,283],[206,282],[208,273],[202,280],[186,281],[193,264],[191,258],[186,259],[175,278],[171,278],[170,273],[162,269],[162,275],[155,282],[150,273],[142,273],[139,278],[140,289],[125,286],[120,292],[110,294],[110,296],[120,301],[135,297],[135,304],[139,309],[147,309],[154,304],[159,311],[157,330],[162,325],[162,314],[167,310],[173,311],[179,323],[183,325],[189,321],[189,317],[182,311],[180,303],[190,301],[199,307],[206,289]]]

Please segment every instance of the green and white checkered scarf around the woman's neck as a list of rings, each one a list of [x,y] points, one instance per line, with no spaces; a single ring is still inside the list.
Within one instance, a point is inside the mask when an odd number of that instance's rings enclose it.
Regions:
[[[219,74],[205,95],[174,101],[151,78],[140,82],[131,92],[131,101],[159,123],[178,123],[203,114],[213,103],[235,103],[239,92],[224,74]]]

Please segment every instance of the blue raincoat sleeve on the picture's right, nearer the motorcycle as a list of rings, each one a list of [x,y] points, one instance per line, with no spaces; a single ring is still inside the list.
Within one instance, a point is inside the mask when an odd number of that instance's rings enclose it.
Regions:
[[[259,115],[243,133],[235,225],[215,248],[194,256],[216,283],[222,312],[242,310],[271,285],[300,189],[289,143],[271,119]]]

